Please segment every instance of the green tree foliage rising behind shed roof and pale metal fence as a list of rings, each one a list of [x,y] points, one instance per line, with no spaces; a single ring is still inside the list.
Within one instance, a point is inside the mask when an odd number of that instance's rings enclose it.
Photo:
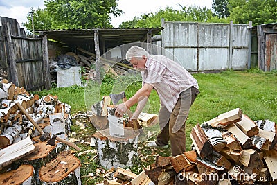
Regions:
[[[156,12],[143,14],[140,17],[134,17],[130,21],[124,21],[120,28],[127,27],[160,27],[161,19],[165,21],[192,21],[192,22],[228,22],[228,19],[219,19],[213,16],[213,12],[208,8],[181,6],[180,10],[174,10],[172,7],[159,9]]]

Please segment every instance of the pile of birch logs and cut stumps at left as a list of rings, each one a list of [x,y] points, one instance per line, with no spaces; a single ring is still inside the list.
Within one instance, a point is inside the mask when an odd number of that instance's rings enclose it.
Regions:
[[[26,116],[44,132],[67,139],[70,105],[60,102],[57,96],[39,98],[24,87],[0,80],[0,184],[81,184],[80,161],[68,146],[40,141],[42,133]],[[19,105],[28,113],[24,114]],[[62,127],[51,123],[52,114],[62,115]]]

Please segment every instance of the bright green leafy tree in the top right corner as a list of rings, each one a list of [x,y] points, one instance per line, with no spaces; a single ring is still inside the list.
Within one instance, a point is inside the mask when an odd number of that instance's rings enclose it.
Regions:
[[[276,0],[229,0],[230,19],[235,23],[253,25],[277,21]]]

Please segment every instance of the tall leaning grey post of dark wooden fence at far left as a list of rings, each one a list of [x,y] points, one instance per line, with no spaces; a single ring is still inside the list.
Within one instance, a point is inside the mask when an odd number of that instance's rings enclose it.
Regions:
[[[17,76],[17,63],[15,62],[15,50],[12,43],[12,35],[10,33],[10,24],[6,24],[6,37],[8,39],[8,60],[10,64],[10,78],[11,81],[19,86],[18,76]]]

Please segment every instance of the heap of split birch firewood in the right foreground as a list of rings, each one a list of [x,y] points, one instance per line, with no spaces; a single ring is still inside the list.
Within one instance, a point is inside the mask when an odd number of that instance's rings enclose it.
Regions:
[[[277,180],[276,123],[237,108],[193,127],[193,148],[157,156],[139,175],[118,168],[102,184],[269,184]],[[120,174],[120,175],[118,175]]]

